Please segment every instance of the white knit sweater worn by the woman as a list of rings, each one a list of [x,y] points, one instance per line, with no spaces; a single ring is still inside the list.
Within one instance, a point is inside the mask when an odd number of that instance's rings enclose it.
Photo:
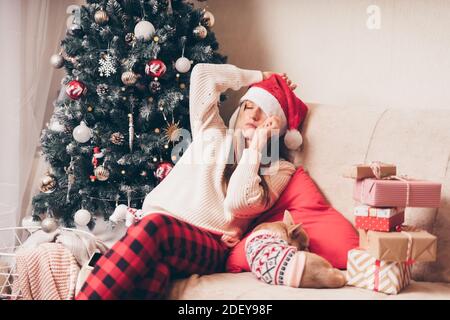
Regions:
[[[222,240],[233,246],[251,221],[275,203],[295,172],[295,166],[288,161],[272,164],[273,174],[262,176],[270,190],[267,206],[258,174],[260,151],[244,149],[228,188],[224,179],[226,155],[234,138],[227,134],[219,114],[220,94],[261,80],[261,71],[230,64],[200,63],[193,68],[189,106],[192,144],[170,174],[147,195],[142,206],[144,215],[169,214],[221,234]]]

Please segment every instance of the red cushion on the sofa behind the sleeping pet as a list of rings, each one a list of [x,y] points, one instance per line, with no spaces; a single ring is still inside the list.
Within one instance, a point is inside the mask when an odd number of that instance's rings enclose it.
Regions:
[[[327,259],[335,268],[346,269],[347,253],[358,246],[359,238],[352,224],[325,200],[309,174],[299,167],[275,205],[254,223],[282,221],[289,210],[295,223],[302,223],[310,237],[310,250]],[[250,232],[251,232],[250,228]],[[227,261],[228,272],[249,271],[245,257],[244,236]]]

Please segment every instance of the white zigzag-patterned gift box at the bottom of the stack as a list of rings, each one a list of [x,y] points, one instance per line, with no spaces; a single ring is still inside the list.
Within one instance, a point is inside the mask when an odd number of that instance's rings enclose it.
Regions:
[[[347,285],[398,294],[411,281],[411,264],[387,262],[358,248],[348,252]]]

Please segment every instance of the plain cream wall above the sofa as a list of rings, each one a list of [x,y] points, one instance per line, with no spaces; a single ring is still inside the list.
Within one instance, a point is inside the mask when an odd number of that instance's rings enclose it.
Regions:
[[[367,27],[370,5],[379,29]],[[209,0],[207,9],[229,63],[287,72],[305,102],[450,108],[450,0]]]

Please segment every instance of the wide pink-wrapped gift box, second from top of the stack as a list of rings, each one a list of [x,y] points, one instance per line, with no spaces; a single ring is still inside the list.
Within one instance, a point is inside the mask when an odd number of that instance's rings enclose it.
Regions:
[[[353,199],[374,207],[439,208],[441,184],[400,177],[356,180]]]

